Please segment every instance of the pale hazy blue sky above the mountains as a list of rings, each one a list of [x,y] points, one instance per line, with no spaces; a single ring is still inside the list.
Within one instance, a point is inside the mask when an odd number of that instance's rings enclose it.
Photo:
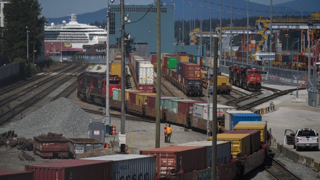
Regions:
[[[173,0],[181,1],[181,0]],[[213,0],[218,1],[219,0]],[[285,3],[292,0],[274,0],[273,4]],[[85,12],[94,12],[107,7],[107,0],[39,0],[42,6],[42,15],[47,18],[57,18],[67,16],[71,13],[81,14]],[[145,5],[151,4],[154,0],[124,0],[125,4]],[[269,0],[250,0],[250,2],[269,5]],[[114,4],[119,4],[120,0],[115,0]],[[111,3],[110,3],[111,4]]]

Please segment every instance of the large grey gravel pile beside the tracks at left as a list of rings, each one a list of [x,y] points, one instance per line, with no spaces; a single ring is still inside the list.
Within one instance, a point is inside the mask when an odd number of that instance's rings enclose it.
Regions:
[[[46,104],[18,122],[0,128],[0,132],[15,130],[19,136],[33,138],[48,132],[63,134],[64,137],[88,137],[89,120],[84,110],[66,98]]]

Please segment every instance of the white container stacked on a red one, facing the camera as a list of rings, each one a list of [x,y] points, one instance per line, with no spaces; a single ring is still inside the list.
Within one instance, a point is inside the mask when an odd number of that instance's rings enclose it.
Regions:
[[[153,71],[154,71],[154,66],[152,64],[140,64],[139,65],[139,84],[153,85]]]

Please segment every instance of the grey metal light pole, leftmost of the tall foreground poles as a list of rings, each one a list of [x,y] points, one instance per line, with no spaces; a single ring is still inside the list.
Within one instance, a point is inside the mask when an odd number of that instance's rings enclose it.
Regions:
[[[108,6],[107,6],[107,49],[106,49],[106,56],[107,56],[107,70],[106,70],[106,114],[104,114],[103,119],[105,120],[106,127],[107,127],[107,135],[109,135],[109,126],[110,126],[110,78],[109,78],[109,72],[110,72],[110,59],[109,59],[109,34],[110,34],[110,25],[109,25],[109,17],[110,17],[110,11],[109,11],[109,0],[108,0]],[[118,43],[119,46],[119,43]],[[124,77],[123,77],[124,78]],[[123,79],[122,79],[123,80]]]

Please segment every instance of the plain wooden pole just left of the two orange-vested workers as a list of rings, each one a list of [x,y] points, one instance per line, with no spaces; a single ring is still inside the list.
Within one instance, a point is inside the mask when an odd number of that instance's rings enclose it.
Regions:
[[[156,148],[160,147],[160,99],[161,99],[161,29],[160,29],[160,4],[161,0],[157,0],[157,114],[156,114]]]

